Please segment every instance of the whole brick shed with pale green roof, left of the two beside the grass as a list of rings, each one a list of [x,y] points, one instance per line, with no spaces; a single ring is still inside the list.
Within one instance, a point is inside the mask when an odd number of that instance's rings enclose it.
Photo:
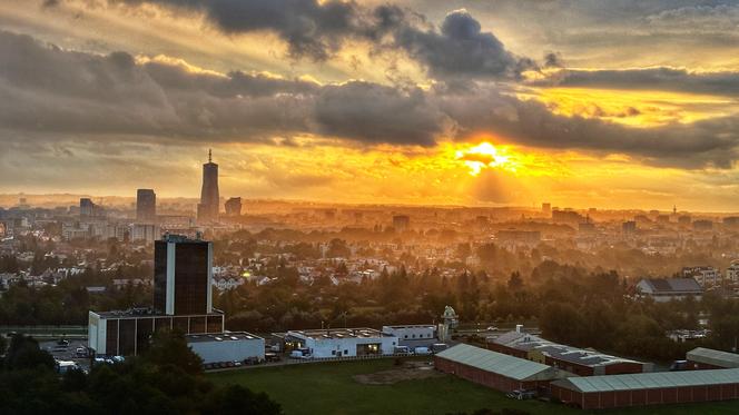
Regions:
[[[459,344],[434,355],[436,369],[502,392],[549,388],[571,374],[523,358]]]

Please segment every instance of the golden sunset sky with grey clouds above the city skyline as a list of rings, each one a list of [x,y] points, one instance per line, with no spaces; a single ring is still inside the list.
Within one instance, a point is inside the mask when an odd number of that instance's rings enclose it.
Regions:
[[[0,0],[0,192],[738,211],[739,1]]]

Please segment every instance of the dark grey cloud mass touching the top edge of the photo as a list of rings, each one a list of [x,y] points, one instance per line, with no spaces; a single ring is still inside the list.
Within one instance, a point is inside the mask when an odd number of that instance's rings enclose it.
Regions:
[[[535,69],[533,60],[515,57],[465,10],[449,13],[436,29],[422,14],[396,6],[362,7],[353,1],[316,0],[119,0],[155,3],[205,14],[226,33],[267,30],[288,45],[294,58],[326,60],[348,39],[377,49],[408,53],[432,76],[518,78]]]

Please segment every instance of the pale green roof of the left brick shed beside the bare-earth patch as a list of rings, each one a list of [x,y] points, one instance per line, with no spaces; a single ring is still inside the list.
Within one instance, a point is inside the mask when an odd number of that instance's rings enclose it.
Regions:
[[[551,366],[523,358],[504,355],[484,348],[459,344],[436,356],[463,365],[476,367],[485,372],[496,373],[516,381],[543,381],[560,378],[569,375]]]

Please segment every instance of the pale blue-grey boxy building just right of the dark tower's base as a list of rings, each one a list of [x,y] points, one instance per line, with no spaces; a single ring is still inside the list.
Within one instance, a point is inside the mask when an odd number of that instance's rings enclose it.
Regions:
[[[188,335],[187,345],[204,364],[219,362],[264,360],[264,338],[246,332]]]

